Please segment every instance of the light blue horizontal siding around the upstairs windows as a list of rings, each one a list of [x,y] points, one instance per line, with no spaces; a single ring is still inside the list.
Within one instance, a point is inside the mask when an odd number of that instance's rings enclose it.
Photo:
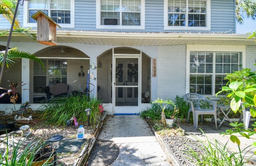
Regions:
[[[75,0],[75,28],[63,30],[116,31],[116,32],[194,32],[164,30],[164,0],[145,0],[145,30],[96,29],[96,0]],[[23,25],[23,6],[19,6],[18,19]],[[2,17],[1,17],[2,18]],[[10,29],[10,23],[0,20],[0,29]],[[235,33],[234,0],[211,0],[211,30],[203,33]]]

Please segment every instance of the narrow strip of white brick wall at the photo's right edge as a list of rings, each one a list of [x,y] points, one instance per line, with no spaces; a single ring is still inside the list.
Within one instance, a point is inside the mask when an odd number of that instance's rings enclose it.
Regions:
[[[246,46],[246,68],[251,68],[252,71],[256,71],[256,46],[247,45]]]

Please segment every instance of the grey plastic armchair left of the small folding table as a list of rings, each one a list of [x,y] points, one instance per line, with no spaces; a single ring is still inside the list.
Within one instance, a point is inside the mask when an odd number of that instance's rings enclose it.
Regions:
[[[217,103],[197,93],[187,93],[183,96],[183,99],[189,103],[188,119],[189,123],[190,112],[193,115],[194,129],[198,129],[198,115],[201,115],[201,122],[204,121],[204,115],[214,115],[214,121],[217,128]],[[212,109],[201,109],[200,101],[208,102],[212,105]]]

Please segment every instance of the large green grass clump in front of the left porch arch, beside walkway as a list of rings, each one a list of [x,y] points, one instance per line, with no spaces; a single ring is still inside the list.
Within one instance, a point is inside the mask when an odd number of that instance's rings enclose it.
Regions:
[[[50,103],[44,105],[44,113],[42,119],[53,125],[65,126],[67,121],[76,118],[78,124],[86,124],[88,116],[85,109],[90,111],[90,124],[97,124],[101,113],[99,105],[101,101],[87,95],[70,95],[68,97],[56,98]]]

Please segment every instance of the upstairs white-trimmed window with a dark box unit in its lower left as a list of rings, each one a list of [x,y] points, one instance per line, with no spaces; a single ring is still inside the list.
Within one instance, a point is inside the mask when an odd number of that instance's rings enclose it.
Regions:
[[[144,0],[98,0],[97,2],[97,28],[144,29]]]

